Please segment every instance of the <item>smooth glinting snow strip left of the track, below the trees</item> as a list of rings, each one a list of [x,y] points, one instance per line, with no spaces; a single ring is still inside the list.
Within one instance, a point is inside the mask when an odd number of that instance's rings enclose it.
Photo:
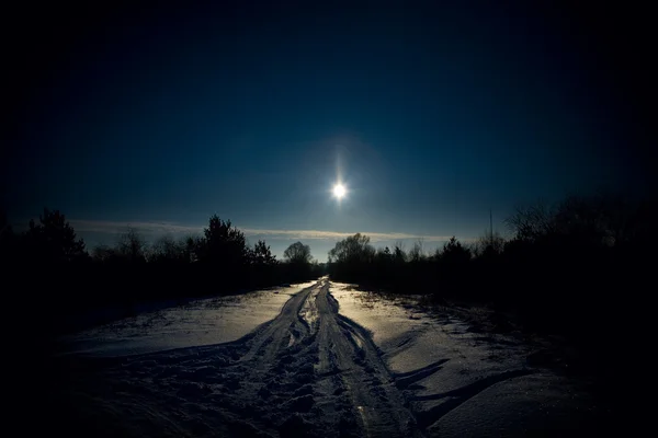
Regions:
[[[291,296],[315,281],[205,298],[144,312],[59,339],[63,354],[127,356],[236,341],[273,320]]]

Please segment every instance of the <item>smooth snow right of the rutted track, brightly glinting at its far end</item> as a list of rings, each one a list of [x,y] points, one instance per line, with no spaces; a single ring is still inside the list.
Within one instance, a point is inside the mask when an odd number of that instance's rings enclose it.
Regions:
[[[340,313],[372,333],[416,419],[430,436],[567,435],[595,422],[580,385],[529,366],[537,346],[474,333],[450,314],[430,314],[419,297],[381,296],[331,284]]]

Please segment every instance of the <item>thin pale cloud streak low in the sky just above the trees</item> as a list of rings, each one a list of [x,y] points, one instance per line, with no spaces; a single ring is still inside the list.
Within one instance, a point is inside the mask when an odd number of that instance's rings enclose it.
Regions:
[[[84,233],[106,233],[116,234],[126,230],[128,227],[136,229],[144,234],[200,234],[204,227],[181,226],[171,222],[121,222],[105,220],[70,220],[71,226],[76,231]],[[356,232],[339,232],[339,231],[322,231],[322,230],[271,230],[271,229],[254,229],[240,228],[247,237],[251,238],[269,238],[269,239],[287,239],[287,240],[340,240],[354,235]],[[372,242],[379,241],[396,241],[396,240],[418,240],[424,242],[444,242],[450,240],[451,235],[421,235],[400,232],[361,232],[371,238]],[[460,239],[462,241],[470,241],[473,239]]]

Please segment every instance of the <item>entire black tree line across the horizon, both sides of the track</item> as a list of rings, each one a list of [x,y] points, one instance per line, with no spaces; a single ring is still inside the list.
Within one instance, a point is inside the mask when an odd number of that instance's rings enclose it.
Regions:
[[[593,346],[612,331],[628,297],[639,297],[650,273],[657,234],[655,199],[598,193],[555,205],[519,207],[509,238],[484,232],[456,238],[433,252],[422,241],[375,249],[356,233],[337,242],[328,263],[313,263],[300,242],[276,260],[264,241],[247,243],[230,221],[213,216],[202,235],[163,235],[148,243],[127,229],[113,246],[88,252],[58,210],[15,232],[0,215],[0,260],[10,297],[39,300],[61,326],[66,315],[107,304],[184,299],[302,281],[333,280],[394,293],[423,293],[434,302],[488,304],[532,330]],[[622,299],[622,297],[624,299]],[[66,324],[64,324],[66,326]]]

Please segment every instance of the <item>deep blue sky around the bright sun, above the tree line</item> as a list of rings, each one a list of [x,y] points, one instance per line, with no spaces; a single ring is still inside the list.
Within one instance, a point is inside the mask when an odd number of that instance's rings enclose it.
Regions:
[[[217,214],[322,261],[341,233],[432,246],[489,209],[504,231],[521,203],[653,186],[647,12],[217,3],[9,16],[11,222],[58,208],[93,246]]]

